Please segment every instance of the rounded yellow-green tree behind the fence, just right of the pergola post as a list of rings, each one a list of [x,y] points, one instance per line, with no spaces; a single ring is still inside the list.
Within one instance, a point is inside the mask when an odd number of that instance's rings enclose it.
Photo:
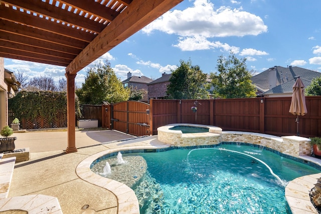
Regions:
[[[103,101],[117,103],[128,100],[129,89],[125,89],[110,67],[110,63],[99,63],[87,71],[82,88],[76,90],[81,104],[102,104]]]

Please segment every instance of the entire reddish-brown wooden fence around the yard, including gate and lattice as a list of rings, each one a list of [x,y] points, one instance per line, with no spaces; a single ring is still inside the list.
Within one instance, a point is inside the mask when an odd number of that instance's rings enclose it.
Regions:
[[[299,135],[321,137],[321,96],[305,97],[307,114],[299,116]],[[291,97],[215,100],[150,100],[150,105],[126,101],[113,105],[84,105],[85,119],[98,119],[99,127],[141,136],[157,134],[157,128],[171,123],[219,126],[223,130],[258,132],[276,136],[296,135],[296,116],[289,113]],[[194,113],[192,106],[197,107]],[[146,111],[149,109],[149,111]],[[14,119],[9,113],[9,123]],[[10,124],[9,124],[10,125]],[[21,127],[60,128],[66,116],[53,121],[21,118]]]

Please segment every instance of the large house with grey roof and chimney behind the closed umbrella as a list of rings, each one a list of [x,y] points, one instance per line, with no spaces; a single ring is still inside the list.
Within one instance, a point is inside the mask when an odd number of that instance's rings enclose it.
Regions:
[[[305,87],[311,84],[313,78],[319,77],[320,72],[304,68],[274,66],[251,78],[256,86],[257,95],[264,97],[290,97],[293,85],[299,76]]]

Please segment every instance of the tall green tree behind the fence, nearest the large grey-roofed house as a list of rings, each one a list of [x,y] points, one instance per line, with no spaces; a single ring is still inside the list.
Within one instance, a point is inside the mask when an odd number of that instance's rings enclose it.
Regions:
[[[246,58],[238,59],[231,52],[228,58],[222,56],[217,60],[217,72],[211,73],[213,94],[220,98],[255,97],[255,86],[251,73],[246,68]]]

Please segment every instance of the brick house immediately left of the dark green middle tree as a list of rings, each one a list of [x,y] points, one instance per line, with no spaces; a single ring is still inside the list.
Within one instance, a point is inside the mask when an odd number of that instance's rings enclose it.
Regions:
[[[167,96],[167,86],[170,84],[172,74],[163,73],[161,78],[158,78],[147,84],[148,100],[149,99],[164,99]]]

